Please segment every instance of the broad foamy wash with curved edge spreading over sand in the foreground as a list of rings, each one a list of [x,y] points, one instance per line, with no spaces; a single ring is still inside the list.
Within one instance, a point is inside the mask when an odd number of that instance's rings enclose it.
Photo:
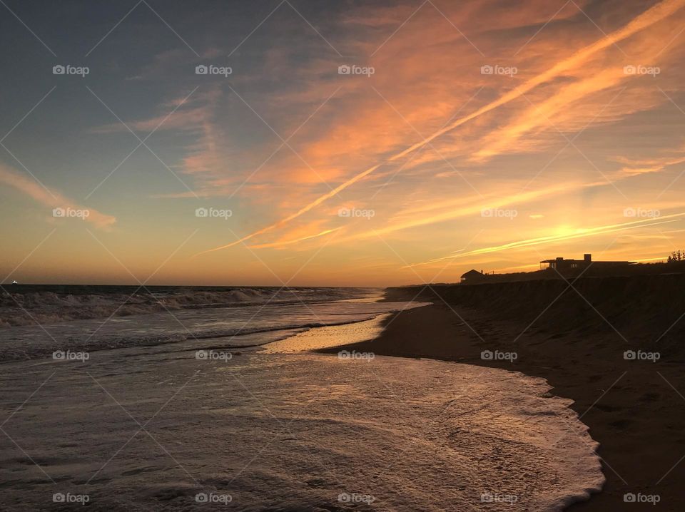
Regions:
[[[91,358],[97,385],[58,372],[7,422],[56,484],[0,439],[4,508],[87,493],[108,512],[203,510],[198,494],[240,511],[555,511],[604,482],[597,444],[542,379],[391,357],[123,352]],[[11,409],[55,364],[4,366]],[[151,419],[154,441],[131,441],[138,426],[100,385]]]

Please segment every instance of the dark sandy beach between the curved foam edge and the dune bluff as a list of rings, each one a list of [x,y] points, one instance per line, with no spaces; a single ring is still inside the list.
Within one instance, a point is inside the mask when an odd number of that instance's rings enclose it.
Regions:
[[[493,317],[434,297],[430,306],[392,314],[372,341],[318,352],[344,348],[542,377],[552,387],[550,393],[573,401],[571,409],[599,443],[597,454],[607,478],[601,492],[567,510],[642,510],[651,506],[624,502],[625,493],[639,492],[658,494],[660,510],[684,510],[679,481],[685,478],[685,465],[676,463],[685,454],[685,399],[669,386],[679,389],[684,380],[677,364],[680,361],[667,357],[656,367],[651,362],[626,361],[616,357],[617,350],[626,348],[623,341],[606,332],[579,337],[576,332],[542,334],[530,329],[522,335],[527,322]],[[514,339],[517,341],[512,342]],[[515,351],[517,359],[484,360],[484,350]],[[674,446],[682,446],[682,453]]]

